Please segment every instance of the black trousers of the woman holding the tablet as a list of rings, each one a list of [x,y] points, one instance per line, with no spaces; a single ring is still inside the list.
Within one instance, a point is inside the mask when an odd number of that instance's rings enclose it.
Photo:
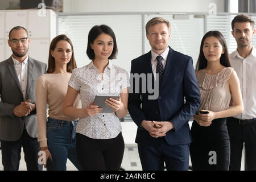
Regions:
[[[113,139],[92,139],[76,134],[76,152],[82,170],[118,171],[124,151],[122,133]]]

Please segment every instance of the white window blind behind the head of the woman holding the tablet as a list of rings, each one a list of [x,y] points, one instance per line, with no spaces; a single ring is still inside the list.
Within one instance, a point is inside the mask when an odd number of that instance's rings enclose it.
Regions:
[[[72,40],[77,67],[82,67],[90,62],[86,55],[90,28],[100,24],[112,28],[117,39],[117,60],[112,63],[130,73],[131,60],[142,55],[142,15],[59,15],[57,33]]]

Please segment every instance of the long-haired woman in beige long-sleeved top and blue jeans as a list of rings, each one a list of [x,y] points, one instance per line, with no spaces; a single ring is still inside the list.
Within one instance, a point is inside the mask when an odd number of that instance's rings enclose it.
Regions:
[[[36,112],[38,120],[38,141],[40,150],[46,152],[47,170],[66,170],[67,159],[81,169],[76,155],[76,125],[78,117],[63,114],[62,105],[68,89],[71,72],[76,61],[71,40],[66,35],[52,39],[49,47],[48,70],[36,82]],[[49,107],[47,116],[47,104]],[[79,97],[75,98],[75,108],[81,108]],[[47,122],[46,122],[47,121]]]

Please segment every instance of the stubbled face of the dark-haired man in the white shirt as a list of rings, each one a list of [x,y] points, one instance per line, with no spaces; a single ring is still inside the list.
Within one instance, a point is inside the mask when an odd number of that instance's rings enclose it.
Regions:
[[[234,29],[232,35],[236,39],[238,47],[251,46],[251,39],[255,34],[253,26],[250,22],[236,22],[234,23]]]

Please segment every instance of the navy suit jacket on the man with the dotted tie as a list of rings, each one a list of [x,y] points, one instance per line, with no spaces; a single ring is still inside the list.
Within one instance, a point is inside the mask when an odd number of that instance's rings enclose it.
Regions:
[[[153,75],[151,51],[131,61],[131,73],[138,73],[139,75],[151,73]],[[155,81],[154,76],[146,79],[147,82]],[[135,80],[131,77],[130,81],[134,83]],[[155,100],[148,99],[148,96],[152,95],[148,90],[146,93],[142,92],[142,79],[139,81],[139,86],[139,93],[135,93],[133,86],[130,87],[128,102],[131,118],[138,126],[135,142],[150,144],[157,140],[141,127],[141,122],[148,120],[172,122],[174,129],[168,131],[165,136],[168,144],[191,143],[188,121],[200,107],[200,90],[197,85],[192,57],[176,52],[170,47],[162,85],[159,88],[159,97]]]

